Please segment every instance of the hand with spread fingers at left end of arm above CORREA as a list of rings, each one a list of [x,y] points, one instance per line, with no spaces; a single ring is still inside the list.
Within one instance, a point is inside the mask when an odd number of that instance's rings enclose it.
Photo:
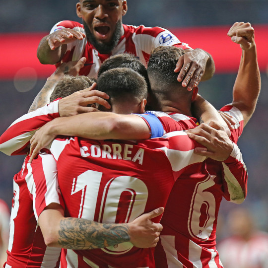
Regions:
[[[57,120],[54,119],[54,120]],[[33,159],[37,156],[39,151],[43,148],[45,148],[50,142],[52,142],[53,139],[57,136],[57,134],[53,134],[51,132],[51,127],[55,123],[54,120],[51,122],[48,122],[46,125],[41,127],[39,130],[35,132],[35,134],[32,136],[30,143],[30,160],[29,163],[32,163]]]

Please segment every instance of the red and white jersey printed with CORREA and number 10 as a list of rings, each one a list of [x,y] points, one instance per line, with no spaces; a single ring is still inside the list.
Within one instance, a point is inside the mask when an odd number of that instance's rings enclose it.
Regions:
[[[58,160],[66,216],[129,222],[144,212],[165,206],[174,182],[185,170],[198,172],[201,181],[212,179],[200,163],[205,158],[194,154],[195,146],[201,145],[184,132],[137,142],[57,138],[50,150]],[[240,161],[241,153],[235,145],[226,166]],[[159,222],[160,217],[153,220]],[[65,251],[67,256],[61,267],[153,268],[153,251],[135,248],[131,243]]]

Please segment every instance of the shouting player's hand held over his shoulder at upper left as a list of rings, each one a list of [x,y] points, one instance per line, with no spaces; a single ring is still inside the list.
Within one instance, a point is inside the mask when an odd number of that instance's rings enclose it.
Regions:
[[[55,50],[63,44],[68,44],[76,40],[82,40],[85,34],[73,29],[64,28],[58,30],[47,37],[47,42],[51,50]]]

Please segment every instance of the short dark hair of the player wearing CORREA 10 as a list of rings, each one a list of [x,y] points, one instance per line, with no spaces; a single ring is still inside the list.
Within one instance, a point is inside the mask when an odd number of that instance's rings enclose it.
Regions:
[[[109,102],[136,102],[147,98],[147,83],[142,75],[130,68],[113,68],[97,79],[97,88],[110,96]]]

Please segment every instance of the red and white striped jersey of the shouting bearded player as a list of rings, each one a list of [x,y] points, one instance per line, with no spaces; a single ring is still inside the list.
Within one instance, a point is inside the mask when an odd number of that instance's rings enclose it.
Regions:
[[[111,55],[128,52],[134,54],[139,60],[147,66],[152,49],[159,46],[177,46],[183,49],[189,49],[188,44],[182,43],[170,31],[160,27],[144,27],[143,25],[133,26],[125,25],[124,35],[120,38],[118,45],[114,48],[111,54],[100,54],[87,39],[76,40],[67,44],[67,52],[65,53],[63,62],[77,61],[81,57],[85,57],[86,63],[80,70],[80,75],[96,77],[101,63],[108,59]],[[63,28],[70,28],[76,31],[85,33],[83,24],[64,20],[58,22],[50,33]]]

